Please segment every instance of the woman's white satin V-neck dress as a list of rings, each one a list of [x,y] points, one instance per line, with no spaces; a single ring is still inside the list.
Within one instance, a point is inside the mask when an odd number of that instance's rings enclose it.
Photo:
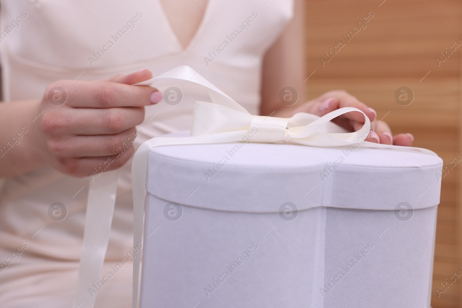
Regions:
[[[183,50],[159,0],[0,0],[3,100],[41,98],[46,86],[60,79],[106,79],[143,67],[156,76],[188,65],[257,114],[259,66],[292,15],[292,0],[208,0],[199,29]],[[188,129],[192,108],[188,101],[146,107],[143,133],[135,147],[158,135]],[[119,172],[107,268],[133,246],[129,166],[130,162]],[[71,307],[90,178],[43,167],[2,182],[0,306]],[[67,208],[62,221],[49,217],[54,202]],[[27,248],[12,259],[22,244]],[[131,275],[129,262],[98,292],[96,307],[130,307]]]

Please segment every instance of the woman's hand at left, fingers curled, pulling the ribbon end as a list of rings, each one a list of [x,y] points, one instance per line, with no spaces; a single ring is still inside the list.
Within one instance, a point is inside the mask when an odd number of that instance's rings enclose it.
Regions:
[[[142,70],[105,81],[60,80],[49,85],[39,106],[46,162],[78,177],[93,175],[102,165],[105,171],[122,167],[134,153],[131,144],[135,126],[144,120],[144,106],[162,99],[157,89],[133,86],[150,78],[152,73]],[[55,87],[65,93],[55,92]],[[66,94],[66,102],[59,105],[60,95]]]

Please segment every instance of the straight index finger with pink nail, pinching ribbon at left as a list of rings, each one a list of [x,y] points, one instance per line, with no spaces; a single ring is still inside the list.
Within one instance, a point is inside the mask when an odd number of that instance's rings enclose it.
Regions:
[[[162,94],[148,86],[132,86],[107,81],[65,80],[49,85],[49,89],[45,91],[44,101],[48,101],[48,93],[56,85],[66,91],[66,105],[75,108],[143,107],[162,100]]]

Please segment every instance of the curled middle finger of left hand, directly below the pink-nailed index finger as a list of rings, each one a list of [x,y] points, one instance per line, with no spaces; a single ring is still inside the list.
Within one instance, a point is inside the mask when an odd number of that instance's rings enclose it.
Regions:
[[[105,109],[69,108],[52,110],[43,115],[42,130],[49,136],[105,135],[120,133],[144,121],[142,107]]]

